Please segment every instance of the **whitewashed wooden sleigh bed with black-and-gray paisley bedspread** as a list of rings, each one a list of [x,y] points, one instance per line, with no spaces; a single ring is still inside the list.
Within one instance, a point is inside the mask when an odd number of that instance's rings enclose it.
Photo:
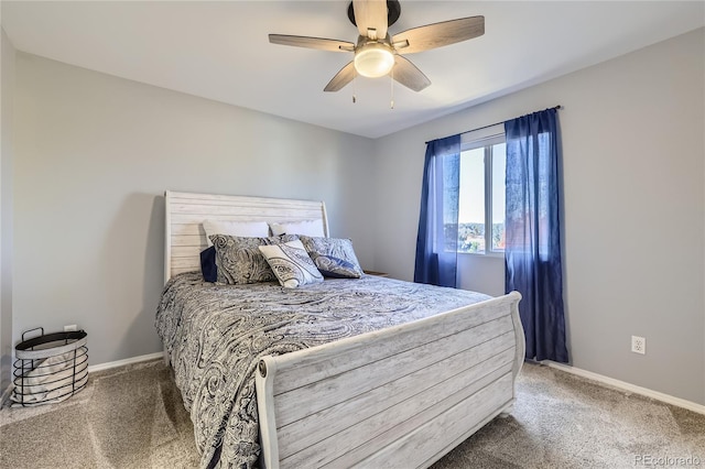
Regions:
[[[424,468],[511,411],[520,295],[362,275],[204,282],[205,219],[318,220],[325,204],[165,193],[156,329],[202,467]]]

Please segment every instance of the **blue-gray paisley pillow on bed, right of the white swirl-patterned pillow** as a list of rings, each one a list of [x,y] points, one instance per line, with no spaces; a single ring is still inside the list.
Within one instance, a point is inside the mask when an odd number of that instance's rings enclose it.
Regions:
[[[357,255],[355,255],[352,241],[349,239],[315,238],[307,236],[300,238],[308,255],[311,255],[311,259],[313,259],[318,269],[334,273],[334,275],[327,276],[344,276],[346,279],[359,279],[362,276],[362,268],[360,268]],[[318,260],[321,257],[324,259]],[[337,263],[338,266],[335,270],[328,269],[327,266],[330,266],[333,263]]]

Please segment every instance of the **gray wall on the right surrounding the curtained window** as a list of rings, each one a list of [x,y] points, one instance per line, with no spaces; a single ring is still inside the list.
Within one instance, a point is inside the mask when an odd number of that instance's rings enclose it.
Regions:
[[[572,362],[705,404],[704,35],[378,139],[377,269],[413,277],[424,141],[563,105]],[[501,259],[463,262],[464,286],[503,290]],[[632,335],[646,356],[630,352]]]

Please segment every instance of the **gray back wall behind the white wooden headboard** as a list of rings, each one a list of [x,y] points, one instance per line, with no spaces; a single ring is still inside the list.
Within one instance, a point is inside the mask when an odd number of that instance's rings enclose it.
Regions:
[[[323,199],[373,266],[372,141],[17,54],[14,339],[88,332],[90,363],[161,350],[164,189]]]

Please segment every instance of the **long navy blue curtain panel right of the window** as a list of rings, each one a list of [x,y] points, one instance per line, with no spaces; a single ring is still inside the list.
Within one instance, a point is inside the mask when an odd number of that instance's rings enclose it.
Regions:
[[[522,295],[527,359],[567,363],[555,109],[505,122],[507,292]]]

